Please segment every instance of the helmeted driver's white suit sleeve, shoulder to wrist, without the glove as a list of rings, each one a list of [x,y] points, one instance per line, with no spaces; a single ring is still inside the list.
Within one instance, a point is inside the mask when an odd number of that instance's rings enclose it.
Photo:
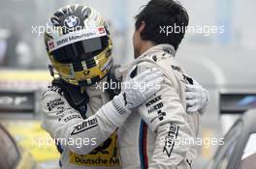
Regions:
[[[130,114],[129,111],[120,114],[111,101],[103,105],[95,115],[83,120],[80,113],[73,109],[63,96],[50,89],[43,96],[42,106],[44,110],[42,127],[58,141],[61,147],[80,155],[89,154],[107,140],[117,127],[122,126]],[[94,141],[76,145],[79,139]]]

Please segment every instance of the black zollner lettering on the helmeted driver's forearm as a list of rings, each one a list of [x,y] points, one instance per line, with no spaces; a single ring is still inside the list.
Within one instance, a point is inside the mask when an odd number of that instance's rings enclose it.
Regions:
[[[80,132],[83,132],[87,129],[90,129],[92,127],[97,127],[97,126],[98,126],[98,121],[96,118],[84,121],[80,125],[78,125],[74,128],[71,135],[79,134]]]

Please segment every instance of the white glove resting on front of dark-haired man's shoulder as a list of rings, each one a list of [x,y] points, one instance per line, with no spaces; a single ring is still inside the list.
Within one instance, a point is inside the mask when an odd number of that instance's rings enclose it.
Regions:
[[[135,69],[137,67],[134,67],[130,73]],[[130,74],[129,77],[131,76]],[[161,70],[155,68],[145,70],[137,76],[123,81],[121,93],[112,99],[112,103],[119,113],[130,112],[157,93],[161,89],[163,81]]]

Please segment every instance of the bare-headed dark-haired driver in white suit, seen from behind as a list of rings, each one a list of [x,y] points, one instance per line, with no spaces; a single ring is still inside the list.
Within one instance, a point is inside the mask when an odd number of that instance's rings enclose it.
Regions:
[[[129,116],[118,129],[123,168],[192,168],[201,115],[187,113],[186,85],[195,82],[176,61],[176,50],[188,22],[186,10],[175,0],[150,0],[136,16],[135,61],[120,69],[120,75],[130,79],[131,74],[156,68],[163,71],[165,80],[161,90],[134,109],[138,113]],[[178,27],[180,31],[164,34],[160,31],[164,26]]]

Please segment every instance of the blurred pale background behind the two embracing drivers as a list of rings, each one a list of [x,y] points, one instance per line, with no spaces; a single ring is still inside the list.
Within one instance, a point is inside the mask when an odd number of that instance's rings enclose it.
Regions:
[[[50,14],[62,6],[88,4],[109,21],[114,62],[123,65],[133,59],[134,16],[148,1],[0,2],[0,123],[43,168],[54,168],[58,159],[55,147],[39,148],[31,143],[38,138],[48,137],[40,128],[39,96],[51,77],[40,27],[46,26]],[[256,1],[180,2],[190,15],[190,26],[205,29],[188,33],[176,57],[187,73],[207,88],[210,94],[208,111],[203,117],[202,137],[221,138],[243,112],[256,107]],[[221,27],[222,31],[209,33],[209,26]],[[195,168],[205,167],[216,149],[217,146],[212,145],[199,148],[200,156],[194,162]],[[1,151],[6,150],[0,148],[0,154]],[[15,152],[9,151],[9,154]]]

